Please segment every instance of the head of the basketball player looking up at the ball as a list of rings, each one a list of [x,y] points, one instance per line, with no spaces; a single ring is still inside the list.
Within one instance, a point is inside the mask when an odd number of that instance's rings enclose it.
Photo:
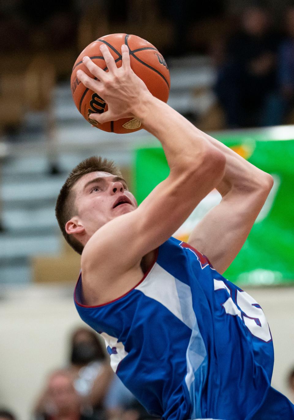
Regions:
[[[113,161],[92,156],[71,171],[57,198],[55,214],[65,240],[81,254],[101,226],[136,207]]]

